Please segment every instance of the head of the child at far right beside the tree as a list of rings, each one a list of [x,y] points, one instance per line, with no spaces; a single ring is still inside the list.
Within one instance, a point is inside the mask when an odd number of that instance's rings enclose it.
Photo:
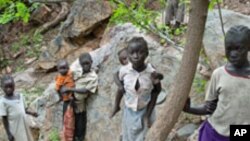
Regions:
[[[231,27],[225,36],[225,54],[233,66],[241,67],[248,59],[250,50],[250,29],[239,25]]]

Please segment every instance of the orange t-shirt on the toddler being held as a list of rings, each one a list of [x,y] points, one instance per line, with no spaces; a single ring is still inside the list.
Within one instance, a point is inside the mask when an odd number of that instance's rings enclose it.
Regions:
[[[75,82],[73,73],[69,70],[66,75],[57,75],[56,76],[56,91],[59,91],[62,86],[67,88],[74,88]],[[69,101],[70,97],[72,97],[73,93],[63,94],[63,101]]]

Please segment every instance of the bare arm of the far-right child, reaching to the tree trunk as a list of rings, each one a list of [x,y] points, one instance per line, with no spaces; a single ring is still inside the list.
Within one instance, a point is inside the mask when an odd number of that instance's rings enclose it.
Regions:
[[[212,101],[206,101],[205,104],[191,107],[190,99],[188,99],[183,111],[195,115],[210,115],[215,111],[217,103],[218,99],[215,99]]]

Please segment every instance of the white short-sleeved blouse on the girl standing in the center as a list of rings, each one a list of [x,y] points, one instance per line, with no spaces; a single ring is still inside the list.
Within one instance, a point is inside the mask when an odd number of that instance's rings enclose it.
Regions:
[[[151,74],[154,71],[155,69],[151,64],[147,64],[146,69],[142,72],[134,70],[131,63],[120,68],[119,79],[123,81],[124,84],[124,100],[128,108],[137,111],[148,105],[153,90]],[[140,87],[138,90],[135,90],[137,80],[140,83]]]

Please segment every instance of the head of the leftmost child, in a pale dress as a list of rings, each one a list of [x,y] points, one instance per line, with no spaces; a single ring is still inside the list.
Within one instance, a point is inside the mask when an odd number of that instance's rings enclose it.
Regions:
[[[15,82],[12,76],[4,75],[1,78],[1,87],[7,96],[13,95],[15,90]]]

